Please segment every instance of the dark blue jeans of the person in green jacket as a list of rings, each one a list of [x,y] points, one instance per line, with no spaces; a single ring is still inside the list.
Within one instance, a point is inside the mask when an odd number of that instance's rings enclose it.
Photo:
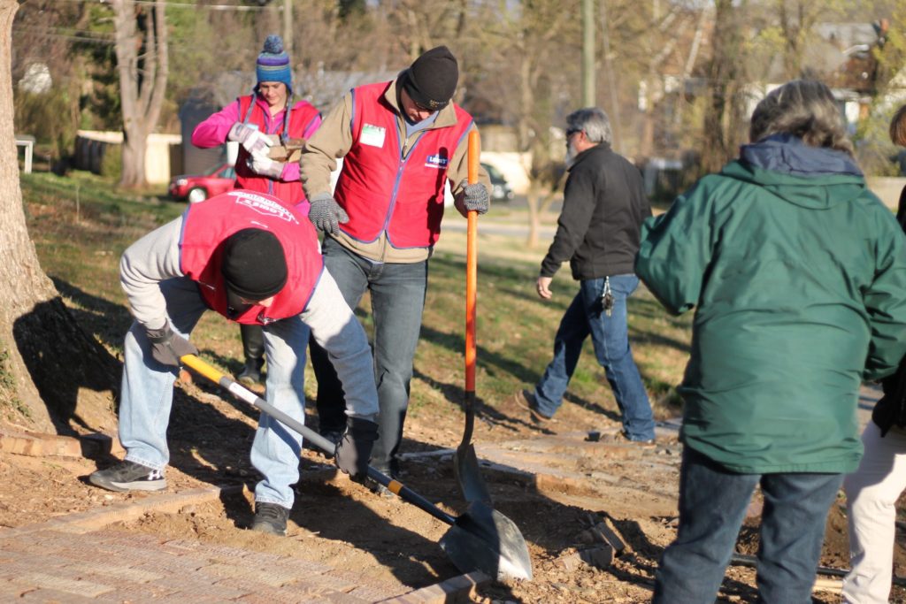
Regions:
[[[812,601],[824,522],[843,475],[735,474],[687,446],[679,471],[679,532],[660,558],[652,602],[714,602],[757,484],[765,498],[758,546],[760,599]]]

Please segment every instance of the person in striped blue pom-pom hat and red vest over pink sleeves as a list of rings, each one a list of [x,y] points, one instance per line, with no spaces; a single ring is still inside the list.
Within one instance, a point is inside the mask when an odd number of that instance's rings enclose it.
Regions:
[[[230,140],[238,142],[236,188],[268,193],[284,205],[302,204],[300,209],[306,214],[308,202],[299,182],[299,164],[271,159],[268,152],[275,139],[282,145],[288,139],[308,139],[321,124],[321,113],[308,101],[292,102],[293,72],[280,36],[267,36],[255,62],[255,76],[252,94],[239,97],[198,124],[192,144],[209,149]],[[241,325],[240,329],[246,367],[238,378],[243,383],[257,383],[265,362],[261,328]]]

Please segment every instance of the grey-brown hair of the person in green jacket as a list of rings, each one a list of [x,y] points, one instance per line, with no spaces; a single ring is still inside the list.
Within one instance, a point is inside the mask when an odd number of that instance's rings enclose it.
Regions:
[[[752,112],[749,139],[757,142],[773,134],[792,134],[811,147],[853,155],[843,114],[831,89],[820,81],[788,81],[758,103]]]

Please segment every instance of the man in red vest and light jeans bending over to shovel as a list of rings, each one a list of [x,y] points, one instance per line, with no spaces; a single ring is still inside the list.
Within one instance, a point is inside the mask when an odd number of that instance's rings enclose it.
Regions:
[[[367,473],[377,438],[377,392],[361,324],[324,270],[308,220],[276,197],[236,190],[191,204],[180,218],[142,237],[122,256],[120,282],[135,321],[126,334],[120,398],[125,460],[94,472],[112,491],[158,491],[169,461],[167,426],[179,358],[208,309],[230,321],[261,325],[267,354],[267,402],[304,421],[305,345],[309,328],[330,355],[346,392],[346,430],[336,464]],[[258,531],[285,534],[299,479],[302,436],[262,414],[251,461]]]

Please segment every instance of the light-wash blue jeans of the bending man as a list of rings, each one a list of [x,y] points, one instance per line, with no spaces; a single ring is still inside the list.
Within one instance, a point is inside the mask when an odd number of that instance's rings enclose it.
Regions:
[[[160,283],[173,331],[188,337],[207,305],[198,283],[186,278]],[[308,327],[299,317],[264,327],[267,402],[304,422],[305,344]],[[169,462],[167,426],[177,369],[151,357],[145,329],[133,322],[126,334],[120,396],[120,443],[126,459],[154,469]],[[255,486],[255,501],[293,507],[292,484],[299,481],[302,436],[262,414],[252,443],[251,460],[264,480]]]

